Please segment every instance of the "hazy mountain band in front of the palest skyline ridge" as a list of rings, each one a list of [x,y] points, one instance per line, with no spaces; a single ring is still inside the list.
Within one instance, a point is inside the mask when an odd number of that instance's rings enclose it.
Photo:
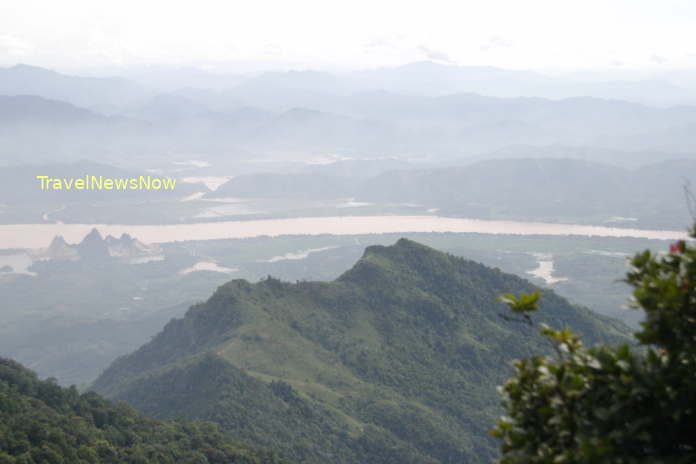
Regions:
[[[252,86],[148,97],[111,117],[78,113],[55,97],[0,98],[10,108],[22,108],[0,109],[0,161],[13,163],[84,157],[133,161],[171,152],[244,153],[246,161],[255,155],[297,160],[326,154],[437,160],[514,145],[677,153],[696,147],[694,106],[655,108],[591,97],[419,96],[383,90],[335,95]]]

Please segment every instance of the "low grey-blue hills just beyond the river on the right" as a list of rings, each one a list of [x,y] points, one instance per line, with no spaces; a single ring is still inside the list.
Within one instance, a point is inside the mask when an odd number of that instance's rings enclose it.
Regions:
[[[365,179],[328,170],[253,174],[235,177],[207,196],[352,197],[368,203],[419,204],[454,216],[591,223],[623,218],[640,227],[680,228],[689,218],[684,188],[693,185],[696,160],[630,170],[577,159],[522,158],[391,170]]]

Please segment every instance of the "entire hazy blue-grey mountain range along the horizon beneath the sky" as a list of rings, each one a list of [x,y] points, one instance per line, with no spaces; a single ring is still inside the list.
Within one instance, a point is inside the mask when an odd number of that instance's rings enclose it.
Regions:
[[[0,69],[0,161],[89,156],[133,162],[171,152],[247,160],[326,153],[439,160],[514,145],[676,153],[696,146],[688,92],[656,82],[611,83],[602,91],[592,90],[596,83],[562,82],[426,62],[350,75],[263,73],[231,77],[222,88],[158,90],[123,78],[15,66]],[[624,88],[638,96],[664,91],[673,104],[646,106],[623,95]]]

